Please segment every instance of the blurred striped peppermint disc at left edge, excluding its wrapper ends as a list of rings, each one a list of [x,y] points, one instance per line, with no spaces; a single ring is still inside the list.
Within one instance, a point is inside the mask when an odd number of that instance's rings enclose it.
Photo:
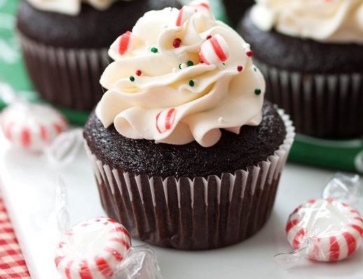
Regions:
[[[45,149],[67,127],[64,116],[44,104],[15,103],[1,114],[1,130],[6,139],[33,151]]]

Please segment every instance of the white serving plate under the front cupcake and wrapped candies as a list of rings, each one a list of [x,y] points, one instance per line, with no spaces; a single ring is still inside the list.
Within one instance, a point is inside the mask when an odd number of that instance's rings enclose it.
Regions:
[[[68,185],[72,225],[85,218],[104,216],[91,165],[83,151],[71,165],[56,168],[43,156],[11,148],[2,138],[0,146],[1,190],[31,278],[58,278],[53,263],[57,229],[52,213],[56,176],[62,176]],[[285,238],[287,216],[304,200],[320,197],[332,175],[333,172],[288,164],[269,223],[243,243],[199,252],[153,247],[164,279],[362,279],[363,248],[354,257],[335,264],[303,261],[284,270],[272,260],[276,253],[290,250]],[[134,245],[138,244],[134,241]]]

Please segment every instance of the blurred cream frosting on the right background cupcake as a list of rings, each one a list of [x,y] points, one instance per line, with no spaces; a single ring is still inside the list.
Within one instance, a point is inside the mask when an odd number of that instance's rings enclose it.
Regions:
[[[363,43],[362,0],[256,0],[252,22],[288,36],[327,43]]]

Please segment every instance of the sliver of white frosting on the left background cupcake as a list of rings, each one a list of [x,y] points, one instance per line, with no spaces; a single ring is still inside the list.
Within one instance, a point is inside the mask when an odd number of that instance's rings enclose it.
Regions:
[[[31,6],[38,10],[47,10],[50,12],[64,13],[66,15],[78,15],[80,6],[83,3],[88,3],[99,10],[106,10],[115,1],[120,0],[27,0]],[[123,0],[131,1],[131,0]]]

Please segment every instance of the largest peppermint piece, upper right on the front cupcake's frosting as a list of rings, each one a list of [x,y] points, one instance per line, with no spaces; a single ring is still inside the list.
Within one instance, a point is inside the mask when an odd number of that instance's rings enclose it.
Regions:
[[[218,65],[229,59],[229,46],[222,36],[216,34],[201,44],[199,55],[207,65]]]

